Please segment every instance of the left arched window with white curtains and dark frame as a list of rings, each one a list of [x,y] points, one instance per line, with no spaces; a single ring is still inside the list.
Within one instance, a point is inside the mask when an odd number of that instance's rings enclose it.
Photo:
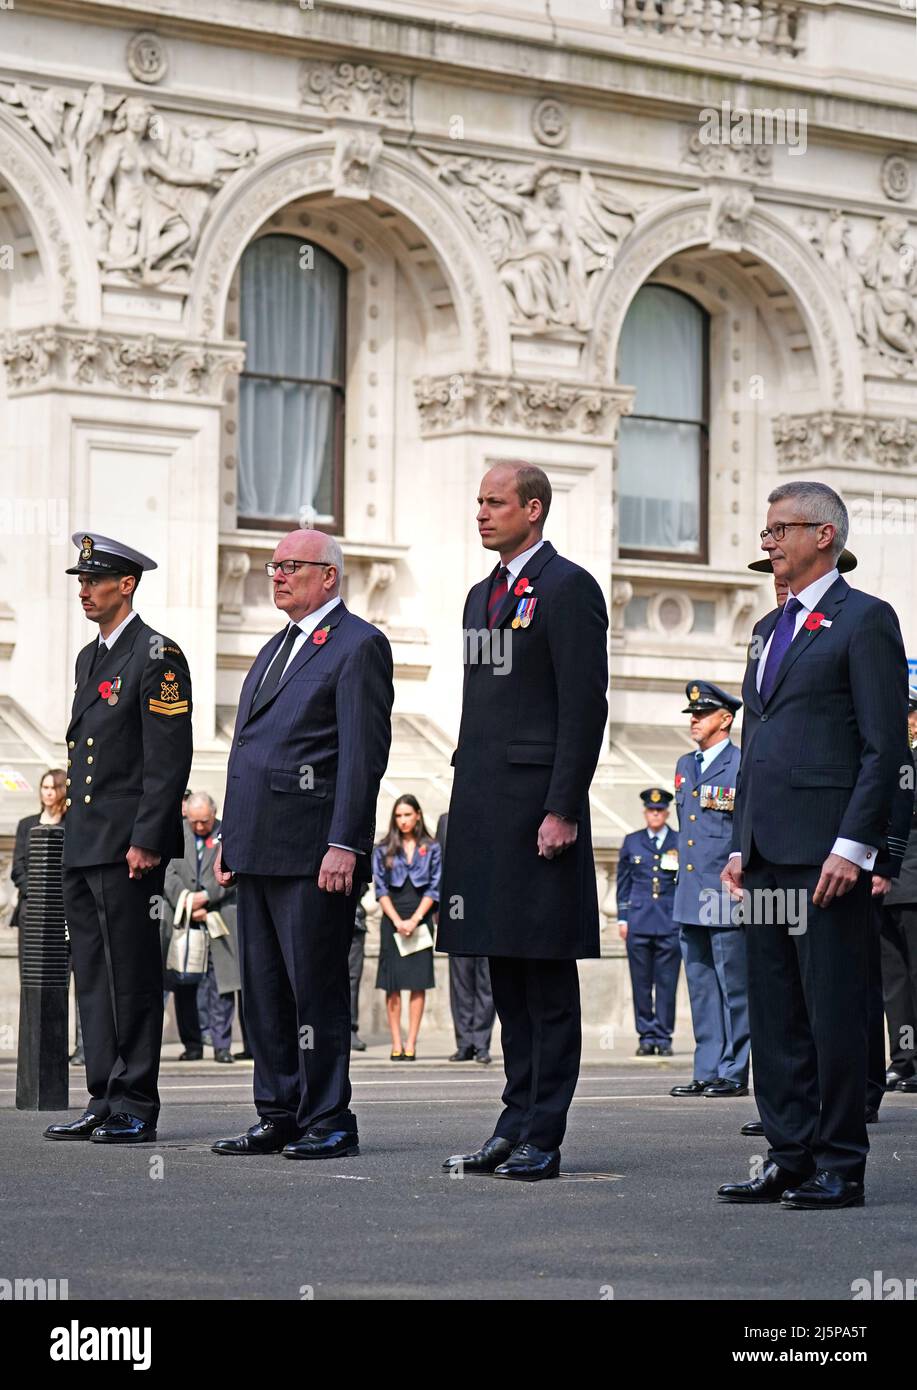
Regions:
[[[346,299],[340,261],[297,236],[242,257],[240,525],[342,530]]]

